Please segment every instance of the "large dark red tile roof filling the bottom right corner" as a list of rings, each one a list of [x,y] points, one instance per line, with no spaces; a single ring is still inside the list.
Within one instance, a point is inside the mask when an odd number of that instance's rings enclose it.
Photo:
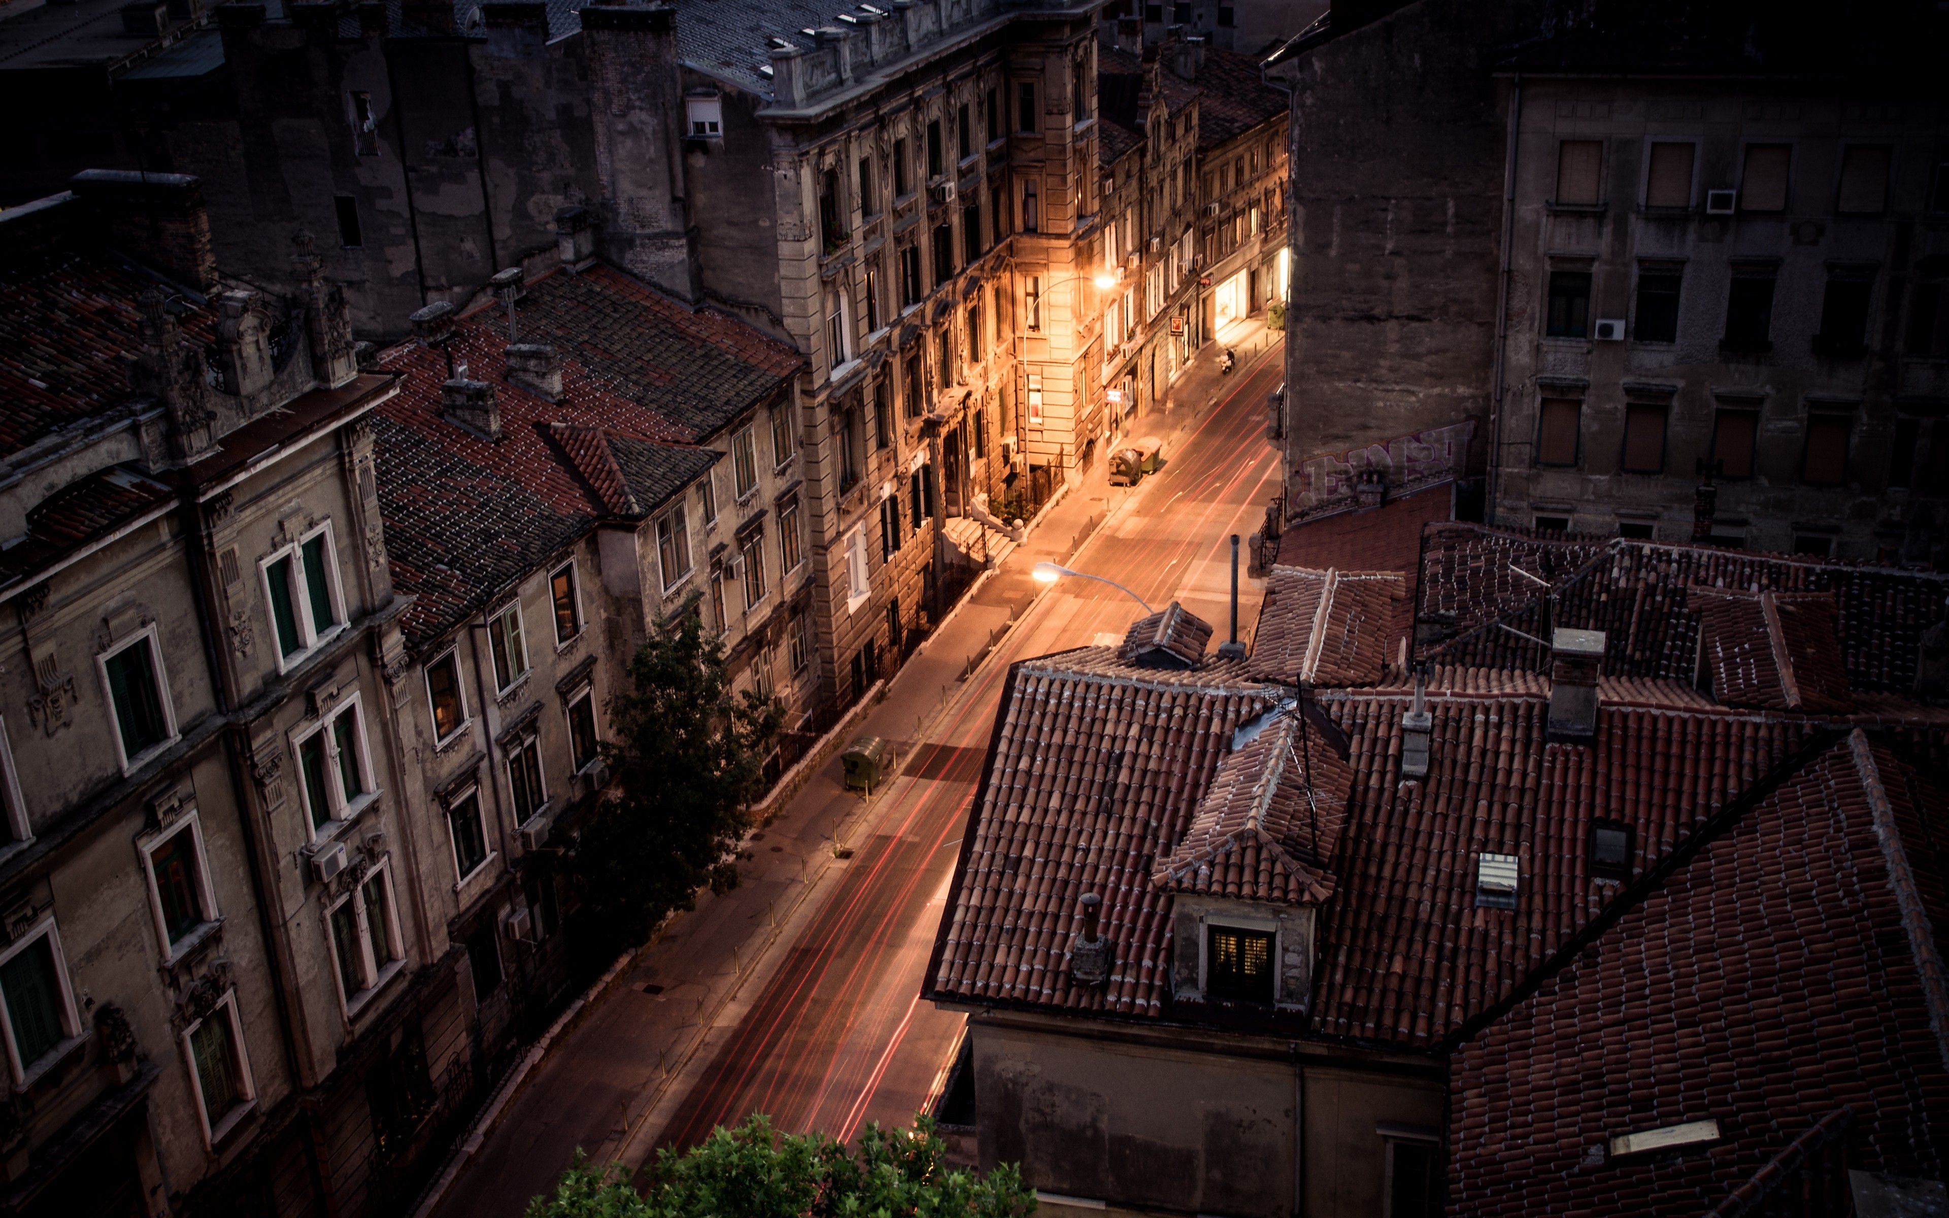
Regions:
[[[1949,1171],[1949,791],[1883,737],[1809,752],[1458,1048],[1448,1210],[1764,1200],[1797,1191],[1766,1165],[1842,1109],[1850,1169]],[[1717,1121],[1719,1140],[1610,1154],[1616,1134],[1692,1121]]]

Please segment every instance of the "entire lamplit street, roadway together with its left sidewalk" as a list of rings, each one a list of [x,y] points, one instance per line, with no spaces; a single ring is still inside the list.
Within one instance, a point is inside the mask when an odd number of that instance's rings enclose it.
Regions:
[[[1203,364],[1189,370],[1185,382],[1203,372],[1218,405],[1183,435],[1160,433],[1167,464],[1138,487],[1109,487],[1097,462],[867,717],[860,735],[895,742],[900,778],[869,803],[840,789],[836,760],[813,778],[752,834],[756,857],[741,887],[706,894],[676,918],[532,1070],[435,1212],[518,1214],[577,1146],[635,1167],[657,1148],[692,1146],[750,1113],[782,1130],[840,1138],[867,1121],[914,1117],[961,1029],[961,1015],[918,992],[1008,665],[1121,639],[1142,616],[1095,581],[1041,590],[1029,569],[1068,559],[1154,608],[1177,598],[1212,624],[1216,651],[1228,629],[1228,536],[1251,534],[1279,489],[1263,419],[1265,396],[1282,378],[1280,353],[1277,341],[1242,349],[1240,370],[1222,380]],[[1142,419],[1136,435],[1175,423]],[[1074,530],[1119,507],[1070,559]],[[1257,581],[1242,573],[1242,633],[1257,598]],[[967,657],[1017,614],[994,653],[957,680]],[[934,725],[916,739],[926,719]],[[852,848],[852,857],[836,859],[834,846]]]

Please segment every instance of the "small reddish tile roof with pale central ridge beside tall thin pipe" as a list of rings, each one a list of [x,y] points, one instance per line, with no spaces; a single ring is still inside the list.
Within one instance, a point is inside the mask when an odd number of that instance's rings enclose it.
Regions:
[[[1397,571],[1273,567],[1265,577],[1249,672],[1282,684],[1370,686],[1386,676]]]

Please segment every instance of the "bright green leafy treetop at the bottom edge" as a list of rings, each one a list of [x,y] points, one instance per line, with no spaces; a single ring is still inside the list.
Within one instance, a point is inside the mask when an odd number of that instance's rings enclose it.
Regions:
[[[1035,1191],[1002,1163],[986,1177],[943,1167],[934,1119],[867,1124],[858,1150],[826,1134],[778,1134],[770,1119],[711,1130],[682,1154],[659,1150],[639,1195],[620,1163],[577,1152],[552,1197],[526,1218],[1027,1218]]]

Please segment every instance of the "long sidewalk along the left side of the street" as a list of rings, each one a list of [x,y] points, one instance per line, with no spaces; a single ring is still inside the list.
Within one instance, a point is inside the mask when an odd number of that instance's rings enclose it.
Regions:
[[[1240,349],[1240,370],[1220,376],[1216,353],[1208,345],[1179,376],[1177,409],[1136,425],[1169,435],[1203,417],[1218,390],[1253,361]],[[959,725],[967,709],[959,705],[963,678],[1043,590],[1029,575],[1035,563],[1066,561],[1130,499],[1127,489],[1109,485],[1107,464],[1099,456],[1041,514],[1023,544],[945,616],[850,735],[887,739],[904,764],[920,744],[941,737],[943,713],[953,711],[949,727]],[[883,830],[881,811],[881,799],[861,801],[844,791],[838,758],[828,760],[770,824],[750,834],[754,857],[741,869],[737,889],[723,896],[702,893],[694,910],[674,916],[591,996],[579,1019],[561,1029],[503,1103],[478,1152],[419,1214],[520,1214],[528,1197],[554,1183],[575,1148],[594,1161],[626,1158],[637,1165],[659,1123],[669,1121],[704,1066],[700,1048],[707,1035],[745,1015],[766,978],[791,955],[772,947],[795,943],[840,883],[846,863],[834,857],[834,846],[854,846]]]

